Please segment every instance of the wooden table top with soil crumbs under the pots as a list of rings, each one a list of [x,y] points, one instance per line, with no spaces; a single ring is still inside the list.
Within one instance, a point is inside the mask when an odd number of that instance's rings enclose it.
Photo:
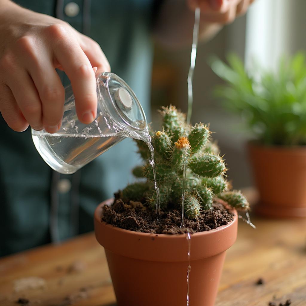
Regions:
[[[305,306],[306,220],[252,221],[256,230],[239,221],[216,306],[264,306],[269,301],[278,306],[287,299],[291,306]],[[35,288],[34,282],[34,288],[22,290],[16,280],[28,277],[45,284]],[[256,285],[259,278],[263,285]],[[0,305],[17,305],[19,298],[27,298],[29,305],[115,306],[104,251],[94,234],[0,259]]]

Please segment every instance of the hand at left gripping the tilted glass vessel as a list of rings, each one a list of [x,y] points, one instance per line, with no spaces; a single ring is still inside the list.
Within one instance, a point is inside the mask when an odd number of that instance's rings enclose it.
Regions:
[[[0,112],[10,128],[58,131],[65,91],[55,68],[71,81],[78,118],[91,123],[95,71],[110,71],[99,44],[64,21],[0,1]]]

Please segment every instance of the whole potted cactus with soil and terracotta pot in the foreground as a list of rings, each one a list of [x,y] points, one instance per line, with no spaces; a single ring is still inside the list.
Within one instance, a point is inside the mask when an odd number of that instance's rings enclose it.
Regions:
[[[190,306],[213,306],[225,251],[237,236],[235,208],[248,210],[248,202],[230,191],[207,126],[187,126],[173,106],[161,114],[162,131],[151,131],[160,221],[149,150],[137,140],[144,165],[133,173],[140,181],[97,207],[96,238],[105,248],[119,306],[180,306],[189,299]]]

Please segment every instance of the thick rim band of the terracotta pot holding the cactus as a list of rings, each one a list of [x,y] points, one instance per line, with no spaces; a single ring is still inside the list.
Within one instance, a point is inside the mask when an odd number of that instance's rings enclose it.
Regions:
[[[186,234],[156,234],[141,233],[131,230],[121,229],[104,221],[101,221],[102,209],[104,205],[110,205],[113,199],[106,200],[98,205],[95,210],[95,235],[97,241],[107,250],[118,255],[152,261],[182,261],[188,260],[188,241]],[[235,242],[237,237],[238,214],[233,211],[233,220],[227,225],[219,226],[216,229],[197,232],[191,234],[192,249],[191,259],[202,259],[219,254]],[[224,237],[227,237],[224,239]],[[118,243],[114,244],[114,240]],[[129,242],[128,242],[129,241]],[[126,247],[121,248],[122,245]],[[213,246],[214,245],[214,246]],[[140,247],[142,254],[135,251],[135,247]],[[164,248],[172,253],[171,260],[167,260],[169,255],[163,256],[158,250]]]

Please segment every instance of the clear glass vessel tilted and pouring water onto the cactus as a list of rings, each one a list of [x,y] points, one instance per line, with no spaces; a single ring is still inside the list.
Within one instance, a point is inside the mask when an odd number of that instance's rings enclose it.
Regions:
[[[97,117],[85,125],[76,116],[71,85],[65,88],[61,129],[50,134],[32,129],[35,147],[45,162],[62,174],[72,174],[125,137],[143,139],[146,117],[136,95],[114,73],[96,79]]]

